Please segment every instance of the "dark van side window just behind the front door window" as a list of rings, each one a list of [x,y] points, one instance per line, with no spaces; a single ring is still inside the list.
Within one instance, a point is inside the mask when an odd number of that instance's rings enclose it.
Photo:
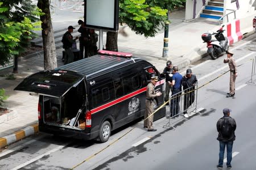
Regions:
[[[123,78],[125,94],[138,90],[142,86],[142,73],[133,73]]]

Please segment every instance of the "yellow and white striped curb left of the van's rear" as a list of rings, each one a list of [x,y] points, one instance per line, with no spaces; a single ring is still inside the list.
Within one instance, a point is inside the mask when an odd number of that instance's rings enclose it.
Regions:
[[[1,137],[0,148],[10,145],[11,143],[19,141],[20,139],[23,139],[25,137],[28,137],[29,135],[38,133],[38,131],[39,131],[38,124],[33,124],[30,126],[27,126],[22,130],[15,131],[13,134],[6,135],[5,137]]]

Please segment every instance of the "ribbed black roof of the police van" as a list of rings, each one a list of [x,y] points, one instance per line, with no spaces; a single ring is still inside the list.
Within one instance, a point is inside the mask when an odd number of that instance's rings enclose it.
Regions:
[[[90,76],[106,73],[113,69],[118,69],[125,65],[142,61],[138,57],[117,57],[104,54],[97,54],[89,58],[84,58],[79,61],[60,66],[55,70],[72,70],[76,71],[89,79]]]

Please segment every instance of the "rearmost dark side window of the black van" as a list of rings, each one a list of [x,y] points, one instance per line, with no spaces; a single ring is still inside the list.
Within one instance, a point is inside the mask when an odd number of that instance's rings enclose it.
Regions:
[[[115,96],[113,82],[105,83],[92,89],[92,107],[95,108],[110,100]]]

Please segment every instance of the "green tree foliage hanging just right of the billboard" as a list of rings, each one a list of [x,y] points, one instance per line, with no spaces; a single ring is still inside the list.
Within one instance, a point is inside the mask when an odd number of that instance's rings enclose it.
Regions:
[[[154,37],[167,19],[167,11],[146,0],[119,0],[119,22],[145,37]]]

